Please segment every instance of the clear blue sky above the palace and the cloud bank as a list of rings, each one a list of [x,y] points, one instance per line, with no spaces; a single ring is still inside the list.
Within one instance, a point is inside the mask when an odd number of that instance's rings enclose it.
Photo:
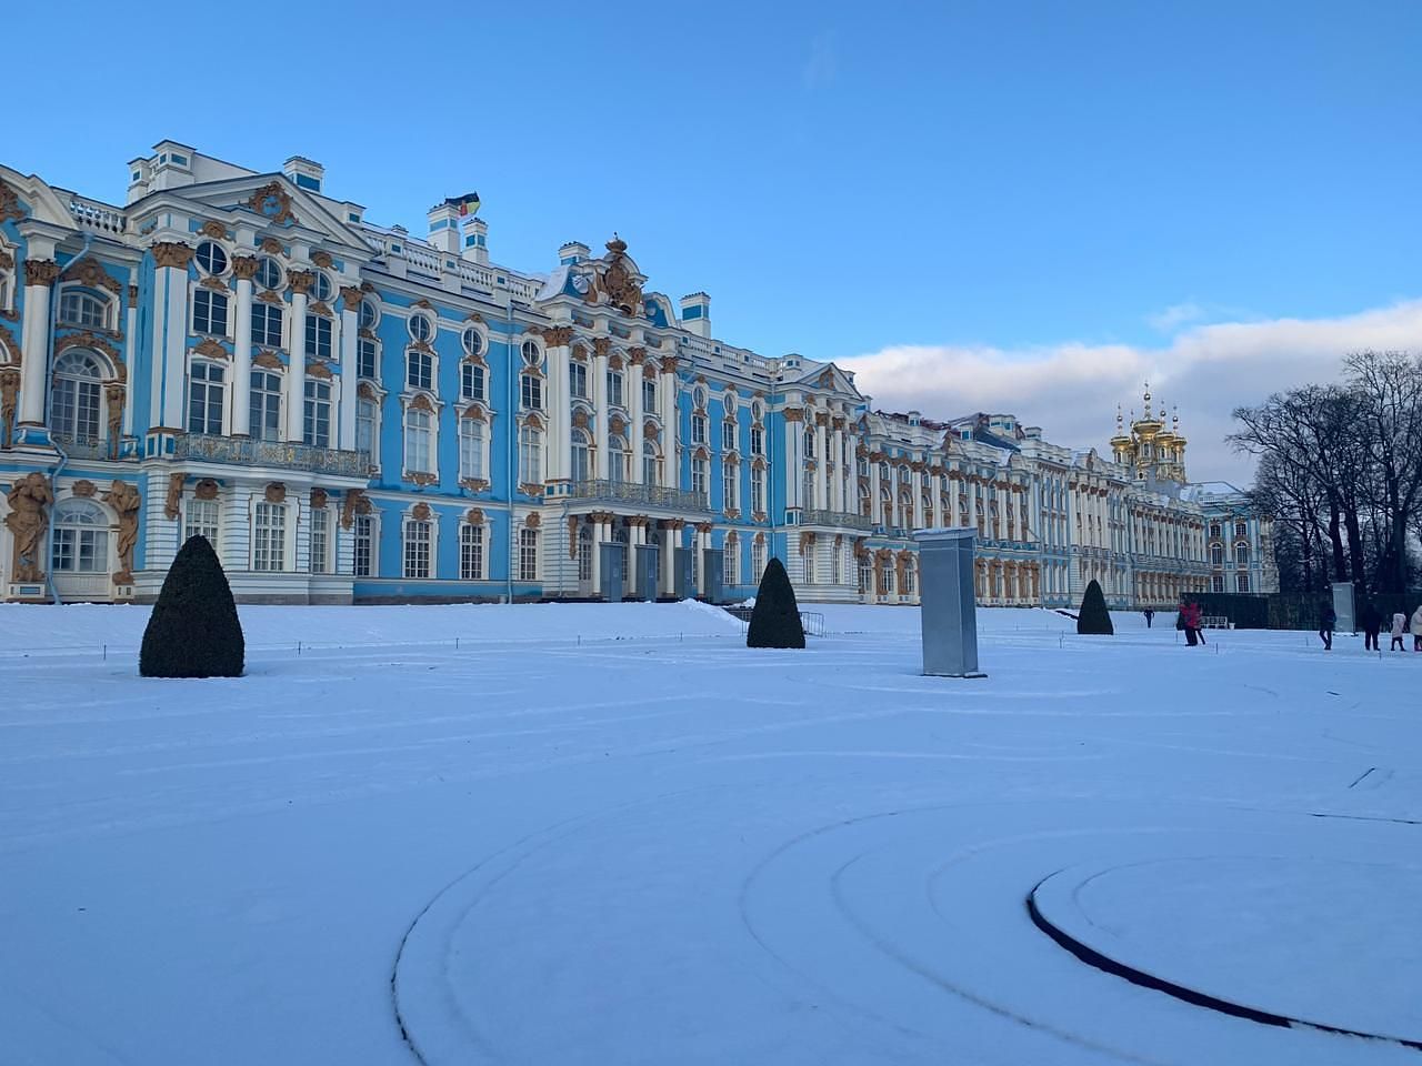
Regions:
[[[900,407],[884,350],[1169,379],[1212,323],[1422,294],[1422,4],[105,10],[9,14],[4,162],[121,199],[164,136],[301,154],[412,232],[478,189],[495,260],[616,229],[725,340],[865,357]]]

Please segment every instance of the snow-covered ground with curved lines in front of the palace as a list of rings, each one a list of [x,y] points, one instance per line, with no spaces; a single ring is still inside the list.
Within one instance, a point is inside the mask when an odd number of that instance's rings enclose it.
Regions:
[[[1419,1062],[1422,655],[822,610],[0,607],[0,1063]]]

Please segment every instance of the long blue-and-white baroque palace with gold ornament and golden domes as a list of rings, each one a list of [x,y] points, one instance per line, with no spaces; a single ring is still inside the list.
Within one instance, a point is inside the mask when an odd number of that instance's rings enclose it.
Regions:
[[[164,141],[124,206],[0,165],[0,598],[151,601],[208,537],[246,603],[754,594],[916,603],[912,530],[978,530],[988,604],[1268,591],[1268,523],[1185,480],[1149,392],[1112,456],[1007,415],[875,411],[715,340],[613,239],[489,260],[461,202],[365,220],[294,156]]]

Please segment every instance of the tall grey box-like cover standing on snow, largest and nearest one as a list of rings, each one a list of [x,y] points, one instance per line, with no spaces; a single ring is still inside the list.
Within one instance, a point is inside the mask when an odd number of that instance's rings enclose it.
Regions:
[[[921,529],[919,600],[923,672],[941,678],[985,678],[977,667],[977,600],[973,586],[973,529]]]

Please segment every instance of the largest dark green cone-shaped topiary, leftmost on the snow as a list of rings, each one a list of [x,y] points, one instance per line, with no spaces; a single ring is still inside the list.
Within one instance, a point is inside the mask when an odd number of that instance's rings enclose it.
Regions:
[[[144,630],[145,678],[239,678],[246,641],[228,576],[206,537],[188,537]]]

